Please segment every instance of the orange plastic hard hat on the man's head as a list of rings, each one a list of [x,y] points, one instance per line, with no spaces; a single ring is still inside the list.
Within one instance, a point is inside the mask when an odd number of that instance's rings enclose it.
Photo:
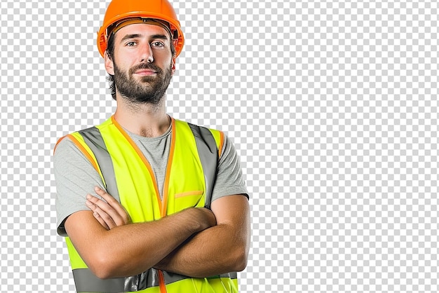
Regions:
[[[104,57],[104,52],[107,50],[109,34],[112,33],[112,29],[109,29],[109,27],[128,18],[165,22],[173,38],[175,57],[180,55],[184,36],[180,22],[177,20],[177,14],[168,0],[112,0],[105,13],[104,23],[97,32],[97,49],[102,57]]]

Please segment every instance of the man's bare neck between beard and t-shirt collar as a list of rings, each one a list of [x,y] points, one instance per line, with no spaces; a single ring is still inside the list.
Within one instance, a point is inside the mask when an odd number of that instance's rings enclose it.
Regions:
[[[170,126],[170,117],[166,114],[164,98],[158,105],[129,104],[123,98],[118,98],[114,118],[129,132],[144,137],[163,135]]]

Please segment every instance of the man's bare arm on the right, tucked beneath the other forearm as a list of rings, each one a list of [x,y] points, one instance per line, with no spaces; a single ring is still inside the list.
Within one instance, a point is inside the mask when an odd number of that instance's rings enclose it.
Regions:
[[[250,246],[248,200],[234,196],[220,198],[215,203],[212,210],[219,224],[197,233],[155,268],[196,278],[245,268]]]

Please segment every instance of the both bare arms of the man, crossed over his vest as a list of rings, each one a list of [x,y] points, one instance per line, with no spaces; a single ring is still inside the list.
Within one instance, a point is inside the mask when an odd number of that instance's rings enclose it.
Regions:
[[[67,235],[95,275],[117,278],[154,267],[195,278],[242,271],[250,247],[250,207],[224,196],[211,210],[190,207],[153,222],[131,224],[112,196],[88,196],[88,207],[65,221]],[[93,212],[93,211],[94,212]]]

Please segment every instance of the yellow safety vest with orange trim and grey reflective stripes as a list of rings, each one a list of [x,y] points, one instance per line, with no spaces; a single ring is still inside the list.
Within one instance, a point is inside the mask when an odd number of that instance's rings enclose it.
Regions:
[[[67,137],[93,164],[107,191],[125,207],[133,223],[161,219],[187,207],[210,206],[224,141],[218,130],[172,119],[163,199],[147,158],[113,116]],[[68,237],[66,243],[77,292],[238,292],[236,272],[191,278],[150,268],[140,275],[102,280],[88,269]]]

